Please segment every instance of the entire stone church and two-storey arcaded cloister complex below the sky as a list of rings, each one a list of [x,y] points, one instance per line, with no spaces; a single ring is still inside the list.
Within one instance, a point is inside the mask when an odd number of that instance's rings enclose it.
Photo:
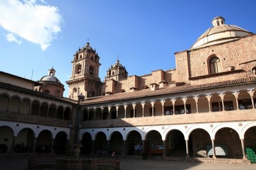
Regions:
[[[175,53],[175,62],[173,69],[129,76],[116,60],[101,81],[100,57],[88,42],[72,59],[68,98],[62,97],[64,88],[53,68],[40,81],[21,78],[27,89],[2,79],[0,132],[5,133],[0,139],[6,152],[21,141],[32,152],[43,145],[61,152],[74,143],[79,120],[83,154],[101,150],[124,157],[147,153],[253,162],[255,34],[215,17],[191,48]],[[78,102],[79,94],[86,99]]]

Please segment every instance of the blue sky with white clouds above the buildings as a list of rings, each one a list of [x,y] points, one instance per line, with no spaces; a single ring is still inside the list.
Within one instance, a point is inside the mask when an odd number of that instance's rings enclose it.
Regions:
[[[40,80],[54,67],[65,85],[71,60],[90,39],[100,56],[100,78],[119,57],[129,75],[175,68],[187,50],[222,16],[226,24],[256,32],[256,1],[2,0],[0,70]]]

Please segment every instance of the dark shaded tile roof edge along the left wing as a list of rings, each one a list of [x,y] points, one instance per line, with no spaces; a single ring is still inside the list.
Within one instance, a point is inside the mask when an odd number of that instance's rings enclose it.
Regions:
[[[45,99],[51,99],[54,101],[60,101],[63,103],[68,103],[68,104],[77,104],[77,101],[73,100],[73,99],[69,99],[67,97],[58,97],[58,96],[54,96],[52,94],[47,94],[44,92],[36,92],[35,90],[29,90],[29,89],[25,89],[16,85],[11,85],[9,83],[3,83],[0,82],[0,89],[8,89],[8,90],[13,90],[16,92],[22,92],[24,94],[30,94],[33,96],[37,96],[37,97],[42,97]]]

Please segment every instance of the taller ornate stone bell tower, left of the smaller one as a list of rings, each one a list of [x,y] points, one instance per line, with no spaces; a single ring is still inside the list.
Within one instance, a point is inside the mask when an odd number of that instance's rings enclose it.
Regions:
[[[87,42],[79,48],[72,60],[72,73],[70,80],[66,81],[69,87],[68,97],[77,99],[79,94],[85,97],[101,95],[102,82],[99,78],[99,55]]]

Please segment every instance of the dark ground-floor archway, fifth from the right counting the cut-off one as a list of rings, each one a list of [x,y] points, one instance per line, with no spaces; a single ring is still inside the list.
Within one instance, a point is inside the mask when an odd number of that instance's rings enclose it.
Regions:
[[[145,152],[151,155],[163,155],[163,140],[161,134],[157,131],[148,132],[145,140]]]

